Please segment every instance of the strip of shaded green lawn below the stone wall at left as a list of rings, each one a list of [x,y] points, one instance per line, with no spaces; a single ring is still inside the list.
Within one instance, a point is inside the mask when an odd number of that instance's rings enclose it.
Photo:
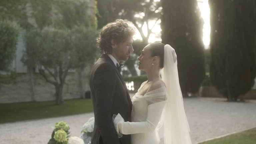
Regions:
[[[55,101],[0,104],[0,123],[88,112],[93,112],[91,99],[65,100],[62,105],[55,105]]]

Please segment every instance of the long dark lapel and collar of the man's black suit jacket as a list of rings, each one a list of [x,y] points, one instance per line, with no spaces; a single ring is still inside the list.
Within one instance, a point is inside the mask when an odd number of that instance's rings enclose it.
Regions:
[[[124,81],[124,79],[123,79],[123,77],[122,77],[120,71],[117,69],[116,65],[114,64],[114,62],[111,60],[111,58],[110,58],[108,55],[106,55],[106,54],[101,54],[100,57],[107,59],[107,60],[110,61],[110,63],[113,65],[113,67],[114,67],[114,69],[115,69],[115,71],[116,71],[118,77],[120,78],[120,80],[122,81],[122,83],[123,83],[123,85],[124,85],[124,87],[125,87],[125,90],[126,90],[126,92],[127,92],[127,97],[128,97],[127,99],[128,99],[129,104],[130,104],[130,107],[131,107],[131,109],[132,109],[132,101],[131,101],[131,98],[130,98],[130,95],[129,95],[129,91],[128,91],[128,89],[127,89],[127,86],[126,86],[126,84],[125,84],[125,81]]]

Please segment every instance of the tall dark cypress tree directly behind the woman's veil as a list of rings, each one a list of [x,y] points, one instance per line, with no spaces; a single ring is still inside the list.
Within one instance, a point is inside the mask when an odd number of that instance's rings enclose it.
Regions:
[[[182,93],[196,93],[205,77],[203,21],[197,0],[162,0],[162,42],[177,53]]]

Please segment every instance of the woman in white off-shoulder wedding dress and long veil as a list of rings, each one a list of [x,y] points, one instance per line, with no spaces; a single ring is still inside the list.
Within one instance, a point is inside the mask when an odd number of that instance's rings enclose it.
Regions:
[[[120,114],[113,116],[119,138],[132,134],[131,144],[159,144],[160,138],[164,144],[191,144],[175,50],[154,42],[143,49],[138,60],[148,80],[131,97],[132,122],[125,122]]]

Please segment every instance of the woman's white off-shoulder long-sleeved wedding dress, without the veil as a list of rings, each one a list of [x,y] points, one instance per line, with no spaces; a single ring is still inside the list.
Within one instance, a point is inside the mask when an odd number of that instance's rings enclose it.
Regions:
[[[124,122],[120,114],[114,116],[114,125],[119,137],[122,134],[132,134],[131,144],[159,144],[158,129],[161,126],[161,116],[167,100],[165,87],[159,87],[145,95],[139,95],[141,88],[146,85],[142,83],[138,92],[131,97],[133,110],[132,122]]]

